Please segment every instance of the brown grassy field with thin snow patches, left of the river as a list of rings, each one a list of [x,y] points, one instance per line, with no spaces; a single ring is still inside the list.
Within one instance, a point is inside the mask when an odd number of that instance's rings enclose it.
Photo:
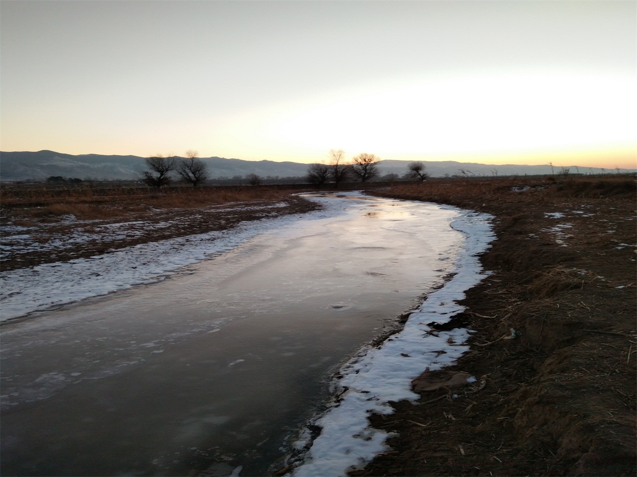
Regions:
[[[164,189],[68,189],[27,191],[2,190],[1,225],[11,225],[3,233],[3,244],[29,234],[41,243],[73,237],[76,231],[89,233],[118,223],[144,223],[139,233],[122,237],[106,234],[103,239],[76,243],[75,247],[45,247],[4,254],[2,270],[90,257],[107,250],[155,242],[172,237],[225,230],[243,221],[307,212],[317,205],[290,191],[248,186],[225,188]],[[229,205],[229,206],[227,206]],[[245,205],[245,207],[241,207]],[[154,224],[161,223],[161,227]],[[73,241],[71,241],[73,242]]]

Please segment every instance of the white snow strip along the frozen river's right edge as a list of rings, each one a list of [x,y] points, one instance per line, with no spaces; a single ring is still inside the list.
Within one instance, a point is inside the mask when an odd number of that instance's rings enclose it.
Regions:
[[[455,275],[445,286],[429,293],[400,333],[380,348],[362,349],[341,368],[342,378],[334,383],[340,402],[311,422],[322,431],[311,442],[301,466],[294,470],[295,477],[345,476],[350,470],[364,467],[377,453],[389,450],[385,441],[390,434],[369,427],[368,417],[372,413],[392,413],[390,401],[415,401],[419,396],[412,391],[413,378],[427,368],[444,368],[469,350],[462,345],[469,337],[468,329],[434,331],[426,323],[442,324],[462,312],[464,307],[457,301],[486,276],[478,255],[494,239],[490,219],[487,214],[462,211],[452,221],[451,226],[465,236],[463,250],[454,263]],[[310,445],[309,436],[310,431],[305,430],[296,447]]]

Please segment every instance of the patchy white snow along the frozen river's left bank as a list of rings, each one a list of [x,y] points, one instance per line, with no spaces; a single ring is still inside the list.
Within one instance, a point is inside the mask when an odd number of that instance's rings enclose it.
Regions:
[[[345,211],[345,203],[324,201],[325,209],[304,217],[322,218]],[[272,206],[270,206],[272,207]],[[258,208],[258,207],[257,207]],[[227,209],[231,212],[233,209]],[[47,263],[31,268],[0,272],[0,322],[23,317],[31,312],[124,290],[135,285],[166,279],[187,265],[227,252],[248,239],[294,223],[297,215],[250,221],[231,230],[188,235],[159,240],[149,244],[118,249],[90,258]],[[75,221],[69,218],[69,221]],[[108,226],[93,226],[91,232],[71,233],[42,247],[71,247],[78,242],[94,242],[110,235],[135,235],[141,228],[161,227],[144,221],[131,221]],[[8,226],[14,227],[14,226]],[[6,228],[6,226],[5,226]],[[82,228],[78,224],[78,228]],[[29,232],[29,230],[25,230]],[[23,252],[38,247],[37,237],[25,233],[22,240],[3,247],[3,253]]]

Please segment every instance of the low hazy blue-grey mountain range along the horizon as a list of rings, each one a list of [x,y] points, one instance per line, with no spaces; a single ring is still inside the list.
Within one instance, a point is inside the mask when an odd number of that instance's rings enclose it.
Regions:
[[[231,179],[257,174],[261,177],[304,177],[308,164],[299,162],[245,161],[222,157],[200,158],[208,166],[211,179]],[[381,176],[397,174],[404,176],[410,161],[382,160],[379,163]],[[431,177],[445,176],[513,176],[559,174],[562,167],[552,170],[550,165],[489,165],[456,161],[422,161]],[[144,158],[140,156],[106,156],[99,154],[71,155],[55,151],[0,152],[0,181],[42,181],[51,176],[93,180],[134,180],[145,170]],[[614,172],[612,168],[568,167],[571,174],[603,174]],[[636,169],[621,172],[636,172]]]

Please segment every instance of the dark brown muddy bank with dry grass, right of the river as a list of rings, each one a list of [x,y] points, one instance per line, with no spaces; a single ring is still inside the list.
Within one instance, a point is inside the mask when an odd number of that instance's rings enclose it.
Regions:
[[[392,450],[352,475],[635,475],[634,178],[375,193],[488,212],[497,240],[481,258],[492,274],[457,317],[477,332],[452,369],[478,384],[396,403],[373,422],[399,434]]]

